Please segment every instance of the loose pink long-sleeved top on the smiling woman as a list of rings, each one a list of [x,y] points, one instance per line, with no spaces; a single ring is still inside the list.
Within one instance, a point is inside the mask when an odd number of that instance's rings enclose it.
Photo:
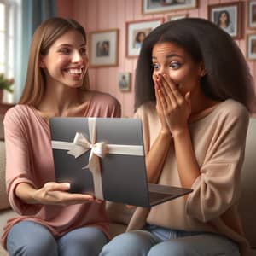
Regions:
[[[119,117],[120,106],[112,96],[92,93],[90,103],[83,113],[85,117]],[[16,105],[6,113],[4,121],[6,144],[7,192],[11,207],[21,216],[8,221],[2,243],[11,227],[23,219],[46,226],[54,236],[84,226],[96,226],[108,236],[108,218],[104,203],[84,203],[71,206],[33,205],[15,196],[19,183],[30,183],[41,188],[44,183],[55,181],[54,163],[50,145],[49,125],[32,106]]]

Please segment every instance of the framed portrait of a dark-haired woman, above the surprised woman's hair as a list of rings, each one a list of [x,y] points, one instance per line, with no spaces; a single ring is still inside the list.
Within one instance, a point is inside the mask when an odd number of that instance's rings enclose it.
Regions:
[[[241,3],[208,5],[208,19],[228,32],[232,38],[241,38]]]

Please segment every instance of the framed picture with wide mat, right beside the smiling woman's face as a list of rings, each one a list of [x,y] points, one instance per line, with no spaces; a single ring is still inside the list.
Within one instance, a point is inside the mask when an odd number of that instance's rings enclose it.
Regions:
[[[110,29],[89,34],[90,67],[118,65],[119,30]]]

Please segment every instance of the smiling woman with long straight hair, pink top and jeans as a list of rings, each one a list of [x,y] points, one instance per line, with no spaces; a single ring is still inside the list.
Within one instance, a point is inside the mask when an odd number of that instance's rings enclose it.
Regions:
[[[104,202],[55,183],[49,118],[119,117],[119,102],[89,90],[84,28],[46,20],[32,37],[26,86],[4,118],[9,202],[20,216],[2,237],[9,255],[98,255],[108,241]]]

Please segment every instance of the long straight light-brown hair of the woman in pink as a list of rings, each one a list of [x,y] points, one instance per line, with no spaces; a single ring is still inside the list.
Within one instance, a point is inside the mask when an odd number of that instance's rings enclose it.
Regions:
[[[55,43],[56,39],[70,30],[80,32],[86,44],[84,28],[75,20],[55,17],[44,21],[38,26],[32,37],[26,72],[26,84],[20,97],[20,104],[37,106],[41,102],[44,96],[46,79],[44,70],[39,67],[40,55],[47,55],[50,46]],[[80,89],[89,90],[88,72],[84,76]]]

